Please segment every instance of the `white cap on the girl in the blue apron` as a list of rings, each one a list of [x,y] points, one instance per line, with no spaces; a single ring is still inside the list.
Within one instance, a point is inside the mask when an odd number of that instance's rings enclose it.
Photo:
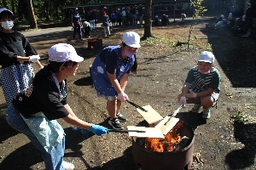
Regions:
[[[131,48],[140,48],[141,37],[134,31],[125,32],[123,42]]]

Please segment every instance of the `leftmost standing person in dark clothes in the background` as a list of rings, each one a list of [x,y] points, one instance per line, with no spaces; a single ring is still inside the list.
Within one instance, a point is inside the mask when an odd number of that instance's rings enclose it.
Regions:
[[[73,39],[75,39],[77,32],[79,33],[79,40],[82,38],[82,20],[79,15],[79,8],[75,8],[75,12],[72,14],[72,27],[73,27]]]

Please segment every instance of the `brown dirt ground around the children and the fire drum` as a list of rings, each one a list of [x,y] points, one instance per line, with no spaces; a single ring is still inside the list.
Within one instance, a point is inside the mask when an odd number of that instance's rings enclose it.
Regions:
[[[190,112],[193,105],[186,105],[176,116],[195,132],[192,169],[256,169],[255,39],[234,35],[228,27],[206,28],[212,17],[205,15],[196,21],[189,49],[186,42],[191,18],[184,22],[170,20],[170,26],[153,27],[155,38],[142,42],[137,53],[137,76],[129,77],[125,93],[137,105],[151,105],[161,116],[172,115],[178,107],[177,94],[189,69],[196,65],[202,51],[212,51],[216,56],[214,65],[222,78],[218,108],[211,109],[208,120],[203,119],[201,113]],[[106,101],[96,98],[90,79],[89,66],[101,49],[87,48],[86,39],[72,40],[71,28],[58,30],[61,28],[28,38],[44,64],[47,63],[47,50],[57,42],[70,43],[77,49],[84,62],[79,65],[77,76],[67,79],[69,105],[82,120],[110,128]],[[127,26],[114,28],[109,38],[103,38],[102,29],[98,28],[91,37],[102,38],[103,46],[114,45],[121,42],[125,31],[143,35],[142,28]],[[34,68],[38,71],[36,66]],[[0,169],[44,169],[40,152],[25,135],[17,133],[5,121],[7,106],[3,92],[0,93]],[[132,105],[124,103],[120,111],[128,117],[123,123],[125,128],[147,125]],[[84,135],[73,131],[73,126],[66,122],[59,122],[67,133],[64,159],[73,162],[75,169],[137,169],[132,160],[131,137],[127,133],[108,133],[101,137],[93,133]]]

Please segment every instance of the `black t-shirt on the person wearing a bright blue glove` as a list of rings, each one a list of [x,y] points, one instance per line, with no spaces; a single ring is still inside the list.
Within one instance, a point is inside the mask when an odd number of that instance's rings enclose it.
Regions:
[[[67,84],[66,80],[65,82]],[[62,86],[61,84],[60,86]],[[32,93],[29,94],[29,92]],[[61,94],[63,93],[67,94],[67,86],[61,90]],[[23,116],[32,116],[42,111],[49,121],[51,121],[66,117],[69,114],[64,107],[67,104],[67,95],[61,99],[61,94],[55,82],[48,77],[36,86],[27,88],[22,93],[17,94],[13,100],[13,104],[15,109]]]

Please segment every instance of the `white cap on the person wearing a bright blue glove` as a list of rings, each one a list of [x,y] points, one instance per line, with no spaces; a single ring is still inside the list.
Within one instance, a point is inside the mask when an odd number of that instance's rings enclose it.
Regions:
[[[49,60],[56,62],[74,61],[82,62],[83,57],[80,57],[75,48],[67,43],[57,43],[48,50]]]

